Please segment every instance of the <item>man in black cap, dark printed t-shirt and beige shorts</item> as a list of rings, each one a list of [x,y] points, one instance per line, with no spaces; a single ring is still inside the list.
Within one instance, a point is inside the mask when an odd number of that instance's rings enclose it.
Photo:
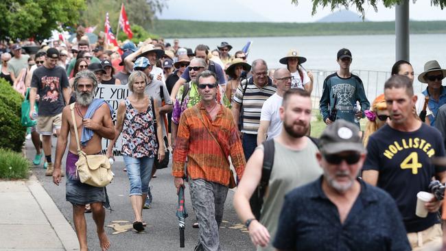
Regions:
[[[49,48],[45,56],[43,67],[38,67],[32,73],[30,91],[30,117],[35,112],[34,102],[36,94],[39,95],[38,119],[36,130],[42,135],[43,152],[45,153],[46,176],[53,175],[53,163],[51,160],[51,135],[53,129],[60,134],[62,125],[62,109],[70,100],[70,88],[67,73],[56,64],[59,60],[59,51]]]

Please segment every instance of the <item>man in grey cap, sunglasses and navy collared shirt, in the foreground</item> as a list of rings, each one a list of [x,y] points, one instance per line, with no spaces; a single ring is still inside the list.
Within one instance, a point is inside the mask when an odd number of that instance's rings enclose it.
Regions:
[[[323,175],[285,195],[277,250],[410,250],[392,198],[357,178],[366,158],[357,125],[338,119],[320,136]]]

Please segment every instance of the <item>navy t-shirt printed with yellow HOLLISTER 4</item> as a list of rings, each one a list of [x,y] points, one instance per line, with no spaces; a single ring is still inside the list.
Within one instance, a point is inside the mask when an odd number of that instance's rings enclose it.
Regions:
[[[377,187],[397,202],[408,232],[419,232],[438,223],[436,213],[415,215],[416,193],[428,191],[432,177],[445,167],[430,163],[434,156],[445,156],[440,132],[423,123],[419,130],[401,132],[384,125],[370,136],[364,170],[379,171]]]

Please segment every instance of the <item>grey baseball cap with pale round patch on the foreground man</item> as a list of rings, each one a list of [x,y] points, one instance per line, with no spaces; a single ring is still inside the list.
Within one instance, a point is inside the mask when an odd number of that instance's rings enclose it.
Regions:
[[[360,128],[344,119],[336,119],[325,128],[319,139],[322,154],[337,154],[344,151],[366,152],[360,136]]]

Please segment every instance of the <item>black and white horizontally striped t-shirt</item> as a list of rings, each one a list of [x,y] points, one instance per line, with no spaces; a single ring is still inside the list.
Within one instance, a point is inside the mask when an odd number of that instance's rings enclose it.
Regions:
[[[245,88],[245,81],[237,87],[237,91],[233,97],[233,101],[243,106],[243,133],[257,134],[260,125],[260,114],[263,103],[276,93],[276,86],[272,85],[270,78],[268,77],[268,84],[263,87],[259,87],[254,84],[253,77],[248,79],[248,86],[246,86],[245,95],[243,95],[243,89]]]

